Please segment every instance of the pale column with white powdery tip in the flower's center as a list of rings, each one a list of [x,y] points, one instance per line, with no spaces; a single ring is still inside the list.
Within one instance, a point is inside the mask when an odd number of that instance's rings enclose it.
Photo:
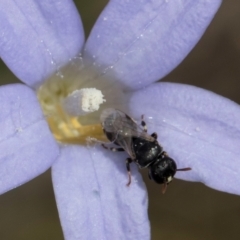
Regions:
[[[83,88],[69,94],[62,102],[63,109],[72,116],[84,116],[99,109],[106,102],[102,92],[96,88]]]

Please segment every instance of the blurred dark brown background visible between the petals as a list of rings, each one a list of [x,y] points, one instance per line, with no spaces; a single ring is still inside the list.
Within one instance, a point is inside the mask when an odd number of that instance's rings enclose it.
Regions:
[[[75,3],[88,35],[107,1]],[[203,38],[163,81],[196,85],[240,103],[239,78],[240,1],[223,0]],[[0,62],[0,84],[17,81]],[[153,240],[240,239],[239,196],[180,180],[162,195],[145,173]],[[63,240],[50,171],[0,196],[0,239]]]

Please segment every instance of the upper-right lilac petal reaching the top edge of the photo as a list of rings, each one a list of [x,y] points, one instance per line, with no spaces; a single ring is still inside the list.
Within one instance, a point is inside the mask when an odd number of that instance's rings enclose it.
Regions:
[[[154,82],[192,50],[221,0],[112,0],[86,43],[103,73],[133,89]]]

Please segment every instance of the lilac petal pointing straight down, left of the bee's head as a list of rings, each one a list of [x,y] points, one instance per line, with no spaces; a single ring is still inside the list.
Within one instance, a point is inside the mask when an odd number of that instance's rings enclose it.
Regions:
[[[135,165],[128,181],[125,153],[101,146],[62,148],[52,168],[65,239],[149,239],[148,200]]]

